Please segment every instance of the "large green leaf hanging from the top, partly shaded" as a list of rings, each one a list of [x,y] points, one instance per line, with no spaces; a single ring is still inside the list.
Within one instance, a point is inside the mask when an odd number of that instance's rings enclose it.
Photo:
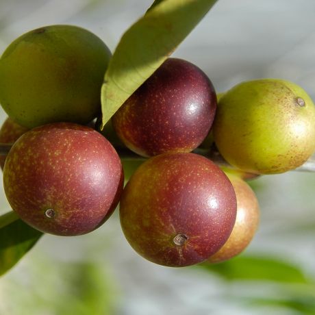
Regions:
[[[112,55],[101,89],[101,128],[188,36],[216,0],[158,2],[127,29]]]

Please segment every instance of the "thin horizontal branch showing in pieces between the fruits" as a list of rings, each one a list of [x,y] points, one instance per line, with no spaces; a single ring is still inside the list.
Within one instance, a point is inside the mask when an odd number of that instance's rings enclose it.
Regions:
[[[0,143],[0,156],[7,155],[11,147],[12,147],[12,144]],[[117,153],[119,154],[119,156],[121,157],[121,159],[146,160],[145,157],[142,157],[132,151],[129,151],[128,149],[116,148],[116,147],[115,149]],[[194,153],[208,157],[220,166],[226,166],[228,168],[234,169],[234,166],[231,166],[229,163],[227,163],[223,159],[223,157],[220,154],[218,154],[217,151],[205,151],[202,149],[196,149],[194,150]],[[315,172],[315,153],[303,165],[299,166],[298,168],[295,168],[293,171]]]

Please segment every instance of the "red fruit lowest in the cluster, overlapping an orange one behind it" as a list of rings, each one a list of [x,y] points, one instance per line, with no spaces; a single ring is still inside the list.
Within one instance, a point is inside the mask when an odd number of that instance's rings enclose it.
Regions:
[[[236,196],[226,175],[207,158],[164,153],[131,176],[120,218],[127,241],[142,257],[163,266],[190,266],[229,238]]]

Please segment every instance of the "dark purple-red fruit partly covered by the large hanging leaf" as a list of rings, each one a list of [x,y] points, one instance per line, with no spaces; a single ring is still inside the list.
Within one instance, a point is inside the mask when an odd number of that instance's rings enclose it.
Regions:
[[[114,114],[117,135],[142,156],[190,152],[210,130],[216,94],[190,62],[168,58]]]

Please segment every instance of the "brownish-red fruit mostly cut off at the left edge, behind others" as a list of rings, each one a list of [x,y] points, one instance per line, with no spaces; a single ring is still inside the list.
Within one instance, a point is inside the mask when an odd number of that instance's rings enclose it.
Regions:
[[[6,118],[0,128],[0,143],[14,143],[29,129],[14,123],[11,118]],[[0,155],[0,167],[3,170],[6,155]]]

